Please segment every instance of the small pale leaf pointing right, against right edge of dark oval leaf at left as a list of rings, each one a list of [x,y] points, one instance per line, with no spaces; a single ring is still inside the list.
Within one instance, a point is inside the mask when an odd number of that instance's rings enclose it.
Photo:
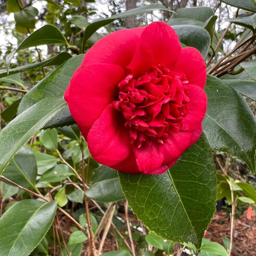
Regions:
[[[37,173],[43,174],[47,170],[51,169],[52,167],[56,166],[57,162],[60,160],[52,155],[48,155],[45,153],[37,152],[35,153],[36,162],[37,162]]]

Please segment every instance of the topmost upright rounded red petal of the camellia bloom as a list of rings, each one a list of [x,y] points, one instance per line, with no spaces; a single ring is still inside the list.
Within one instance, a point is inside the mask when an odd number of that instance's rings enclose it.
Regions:
[[[154,65],[173,68],[180,55],[179,38],[174,29],[164,22],[153,22],[142,32],[140,44],[147,45],[153,53]]]

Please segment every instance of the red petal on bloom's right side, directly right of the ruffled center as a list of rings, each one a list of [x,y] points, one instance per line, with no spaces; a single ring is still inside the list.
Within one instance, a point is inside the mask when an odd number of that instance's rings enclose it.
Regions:
[[[190,85],[187,116],[182,120],[183,131],[194,131],[201,125],[207,108],[207,96],[205,91],[196,85]]]

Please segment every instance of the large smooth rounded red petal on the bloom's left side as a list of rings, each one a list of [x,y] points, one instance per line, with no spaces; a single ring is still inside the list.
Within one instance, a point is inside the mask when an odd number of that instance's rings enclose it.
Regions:
[[[97,63],[81,68],[72,79],[68,106],[85,138],[92,124],[115,99],[123,78],[120,66]]]

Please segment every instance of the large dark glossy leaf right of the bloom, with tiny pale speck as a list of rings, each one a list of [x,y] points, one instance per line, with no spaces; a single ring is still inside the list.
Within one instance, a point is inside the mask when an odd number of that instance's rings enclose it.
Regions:
[[[241,158],[255,173],[256,122],[248,104],[222,80],[207,76],[208,98],[202,122],[211,148]]]

